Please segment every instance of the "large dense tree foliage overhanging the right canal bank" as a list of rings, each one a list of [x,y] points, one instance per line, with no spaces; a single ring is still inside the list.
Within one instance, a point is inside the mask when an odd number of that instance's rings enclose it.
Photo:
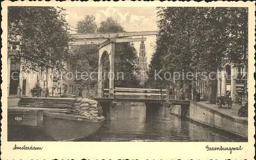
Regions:
[[[154,77],[154,69],[209,73],[222,70],[226,62],[246,63],[247,12],[246,8],[158,8],[159,35],[148,74]],[[170,83],[152,78],[150,82]],[[215,89],[216,81],[211,85]]]

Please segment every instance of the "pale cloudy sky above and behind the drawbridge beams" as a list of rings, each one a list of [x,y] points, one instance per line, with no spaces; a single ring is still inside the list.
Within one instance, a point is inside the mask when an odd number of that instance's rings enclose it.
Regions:
[[[67,22],[76,27],[77,21],[86,15],[94,15],[96,23],[112,17],[123,26],[126,32],[158,31],[156,8],[152,7],[64,7],[67,11]],[[156,36],[144,36],[147,62],[149,64]],[[134,42],[135,48],[139,51],[140,42]],[[139,54],[139,53],[138,53]]]

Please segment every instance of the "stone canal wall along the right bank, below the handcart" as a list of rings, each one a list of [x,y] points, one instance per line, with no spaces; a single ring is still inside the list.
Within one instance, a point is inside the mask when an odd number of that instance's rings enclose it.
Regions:
[[[186,106],[175,105],[170,108],[170,114],[186,117],[190,120],[248,138],[247,120],[239,119],[239,117],[231,117],[212,110],[204,103],[191,101],[188,108]]]

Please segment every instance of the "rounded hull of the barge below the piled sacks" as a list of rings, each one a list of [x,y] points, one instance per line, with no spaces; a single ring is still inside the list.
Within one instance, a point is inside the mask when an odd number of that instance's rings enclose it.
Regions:
[[[82,116],[61,114],[44,114],[44,130],[47,136],[56,141],[76,141],[97,132],[104,122],[103,119],[84,119]]]

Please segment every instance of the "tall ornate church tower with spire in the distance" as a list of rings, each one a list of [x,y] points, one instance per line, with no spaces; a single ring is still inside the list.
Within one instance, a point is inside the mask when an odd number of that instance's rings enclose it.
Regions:
[[[141,44],[140,44],[138,66],[141,71],[140,72],[141,73],[141,76],[140,76],[141,81],[142,81],[142,83],[144,83],[144,80],[146,78],[146,70],[147,70],[147,59],[146,59],[146,51],[145,51],[144,41],[141,41]]]

